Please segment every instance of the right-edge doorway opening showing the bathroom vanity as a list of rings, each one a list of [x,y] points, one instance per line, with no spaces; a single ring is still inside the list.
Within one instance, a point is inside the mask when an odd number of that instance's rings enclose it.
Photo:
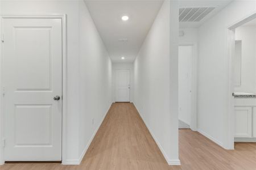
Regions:
[[[256,13],[229,27],[229,148],[256,142],[255,47]]]

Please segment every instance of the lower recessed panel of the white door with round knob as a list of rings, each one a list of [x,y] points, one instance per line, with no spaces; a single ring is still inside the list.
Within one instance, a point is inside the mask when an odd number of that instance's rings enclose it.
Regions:
[[[52,145],[51,105],[15,106],[15,147]],[[27,121],[27,118],[30,121]]]

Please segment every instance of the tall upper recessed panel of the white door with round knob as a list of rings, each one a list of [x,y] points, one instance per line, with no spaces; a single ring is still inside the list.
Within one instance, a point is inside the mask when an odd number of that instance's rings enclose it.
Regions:
[[[16,27],[14,33],[17,90],[50,90],[51,27]]]

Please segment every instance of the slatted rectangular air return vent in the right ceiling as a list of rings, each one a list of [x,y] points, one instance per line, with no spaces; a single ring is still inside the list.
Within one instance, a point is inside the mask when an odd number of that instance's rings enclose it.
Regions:
[[[180,8],[180,22],[200,22],[215,7]]]

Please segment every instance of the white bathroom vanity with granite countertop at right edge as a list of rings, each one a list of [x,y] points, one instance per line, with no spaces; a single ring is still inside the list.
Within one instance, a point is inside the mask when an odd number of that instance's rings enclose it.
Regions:
[[[256,142],[256,94],[234,93],[234,141]]]

